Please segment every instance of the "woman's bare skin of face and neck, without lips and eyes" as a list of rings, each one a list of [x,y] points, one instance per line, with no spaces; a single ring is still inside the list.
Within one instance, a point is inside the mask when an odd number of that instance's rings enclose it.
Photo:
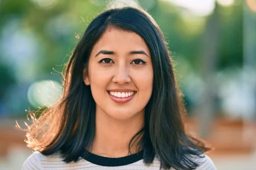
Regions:
[[[112,52],[99,54],[102,50]],[[108,28],[92,49],[88,73],[84,69],[84,83],[90,85],[96,102],[96,133],[91,152],[105,157],[127,156],[131,138],[144,126],[145,106],[153,88],[153,67],[144,40],[134,32]],[[107,92],[116,88],[137,92],[129,102],[117,103]],[[131,153],[136,153],[136,149],[135,144]]]

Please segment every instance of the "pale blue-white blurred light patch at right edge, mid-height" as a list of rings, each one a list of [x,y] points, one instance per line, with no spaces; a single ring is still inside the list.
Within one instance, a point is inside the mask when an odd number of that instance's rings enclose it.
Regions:
[[[243,76],[247,76],[250,82],[247,83],[246,91],[244,91],[244,82],[241,81]],[[250,119],[251,113],[256,110],[256,101],[249,90],[256,87],[256,71],[250,68],[244,69],[226,69],[219,71],[216,77],[218,85],[218,95],[222,99],[221,107],[226,114],[233,119],[244,118]]]

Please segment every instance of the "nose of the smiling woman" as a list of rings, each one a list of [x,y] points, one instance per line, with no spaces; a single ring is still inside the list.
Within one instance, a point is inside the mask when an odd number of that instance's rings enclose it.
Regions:
[[[120,85],[131,82],[128,68],[125,65],[120,65],[116,69],[112,81]]]

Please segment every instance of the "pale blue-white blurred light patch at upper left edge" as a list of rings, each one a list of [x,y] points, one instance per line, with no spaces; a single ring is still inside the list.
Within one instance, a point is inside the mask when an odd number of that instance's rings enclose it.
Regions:
[[[26,82],[35,77],[35,67],[38,67],[40,57],[38,39],[33,31],[22,27],[19,18],[9,17],[2,28],[0,51],[0,62],[14,66],[10,70],[14,72],[17,82]]]

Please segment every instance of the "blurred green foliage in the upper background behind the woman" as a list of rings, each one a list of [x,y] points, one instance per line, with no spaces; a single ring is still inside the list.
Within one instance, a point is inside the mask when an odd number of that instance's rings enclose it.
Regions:
[[[79,37],[82,36],[93,17],[106,8],[106,3],[103,3],[105,0],[58,0],[52,7],[42,8],[35,3],[36,1],[1,0],[0,31],[8,22],[18,18],[20,20],[19,29],[31,32],[38,42],[38,50],[34,56],[38,60],[35,63],[37,65],[35,79],[48,78],[60,81],[60,76],[50,74],[50,72],[56,74],[52,68],[59,72],[62,71],[62,65],[72,54]],[[143,6],[147,6],[144,1],[139,0],[139,2]],[[188,74],[191,71],[198,72],[200,70],[200,55],[204,48],[202,38],[210,16],[195,17],[182,12],[174,4],[161,0],[157,0],[154,6],[148,9],[148,12],[163,31],[175,62],[186,61],[189,63],[186,71],[182,67],[183,63],[179,63],[175,67],[177,71],[181,71],[182,74]],[[218,10],[215,12],[218,13],[218,35],[216,35],[219,37],[218,69],[224,69],[230,65],[241,66],[242,3],[238,6],[218,6]],[[0,32],[0,38],[1,36]],[[0,53],[0,61],[9,57],[3,55]],[[1,96],[10,85],[15,85],[16,82],[15,76],[10,72],[12,69],[9,67],[12,65],[0,63]],[[24,106],[24,108],[27,107]]]

